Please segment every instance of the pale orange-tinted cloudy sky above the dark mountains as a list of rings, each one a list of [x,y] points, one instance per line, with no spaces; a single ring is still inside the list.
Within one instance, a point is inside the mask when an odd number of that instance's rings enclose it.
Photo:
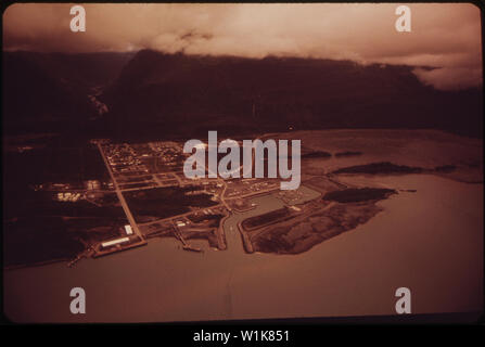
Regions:
[[[411,33],[397,33],[397,5],[86,4],[86,33],[72,33],[69,4],[14,4],[3,14],[3,49],[345,59],[436,66],[414,73],[438,89],[482,85],[476,7],[411,3]]]

